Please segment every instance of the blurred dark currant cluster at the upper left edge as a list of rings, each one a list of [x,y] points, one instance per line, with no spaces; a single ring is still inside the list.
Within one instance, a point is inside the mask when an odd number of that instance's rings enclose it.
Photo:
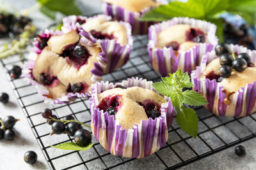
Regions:
[[[6,36],[8,33],[20,34],[24,27],[31,23],[28,17],[15,17],[12,13],[0,13],[0,36]]]

